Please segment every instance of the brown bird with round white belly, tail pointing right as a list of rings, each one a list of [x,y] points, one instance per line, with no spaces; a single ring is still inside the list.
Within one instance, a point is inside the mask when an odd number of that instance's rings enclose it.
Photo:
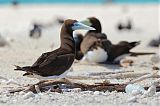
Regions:
[[[117,63],[119,59],[126,55],[137,56],[155,54],[130,52],[132,48],[140,44],[139,41],[121,41],[118,44],[112,44],[111,41],[107,39],[106,34],[101,33],[101,23],[95,17],[88,18],[82,23],[96,29],[94,31],[88,31],[83,38],[80,46],[81,52],[84,54],[82,60],[96,63]]]

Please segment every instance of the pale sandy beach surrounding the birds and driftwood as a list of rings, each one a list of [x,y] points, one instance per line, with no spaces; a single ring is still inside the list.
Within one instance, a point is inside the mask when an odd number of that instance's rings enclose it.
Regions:
[[[32,65],[44,52],[59,47],[59,33],[61,25],[55,23],[42,32],[40,39],[29,38],[29,30],[33,22],[48,23],[57,17],[83,20],[95,16],[102,23],[102,30],[108,39],[117,43],[121,40],[141,41],[141,44],[132,51],[156,52],[158,48],[148,47],[152,38],[160,34],[160,6],[159,5],[20,5],[18,7],[0,6],[0,33],[3,37],[13,39],[9,45],[0,48],[0,76],[13,79],[21,85],[37,83],[37,79],[23,77],[24,72],[14,71],[14,65]],[[132,31],[118,31],[116,25],[119,21],[125,22],[128,18],[133,20]],[[83,32],[83,31],[78,31]],[[53,47],[51,47],[53,46]],[[132,70],[135,73],[152,73],[153,64],[151,56],[128,57],[134,60],[133,66],[127,68],[114,65],[91,65],[74,63],[73,71],[68,76],[88,76],[90,73],[115,72]],[[160,63],[155,64],[160,68]],[[101,78],[96,80],[75,80],[88,84],[109,80],[111,83],[123,83],[132,78]],[[142,86],[150,86],[156,80],[149,78],[138,82]],[[5,87],[7,87],[5,89]],[[8,87],[17,87],[5,84],[0,79],[0,106],[158,106],[160,94],[152,97],[139,98],[136,102],[128,102],[130,94],[121,92],[45,92],[24,97],[25,94],[8,94]]]

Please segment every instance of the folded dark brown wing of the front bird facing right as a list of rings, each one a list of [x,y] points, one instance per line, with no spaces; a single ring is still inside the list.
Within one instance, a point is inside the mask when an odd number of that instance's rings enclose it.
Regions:
[[[36,74],[41,76],[61,75],[71,67],[74,57],[74,54],[69,53],[59,55],[56,59],[52,60],[51,56],[39,66]]]

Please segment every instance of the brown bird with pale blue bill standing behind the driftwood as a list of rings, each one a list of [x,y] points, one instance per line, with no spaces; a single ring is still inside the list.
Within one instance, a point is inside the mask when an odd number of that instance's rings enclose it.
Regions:
[[[43,53],[32,66],[20,67],[15,65],[14,70],[25,71],[26,73],[23,76],[39,80],[64,78],[75,59],[73,31],[78,29],[95,30],[77,20],[67,19],[61,28],[59,48]]]

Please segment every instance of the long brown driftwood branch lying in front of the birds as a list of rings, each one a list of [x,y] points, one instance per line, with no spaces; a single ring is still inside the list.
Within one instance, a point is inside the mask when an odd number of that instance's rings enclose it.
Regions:
[[[10,90],[10,93],[15,93],[20,91],[24,91],[24,92],[32,91],[34,93],[37,93],[35,89],[36,86],[39,87],[39,90],[41,92],[45,92],[49,90],[47,89],[49,86],[52,87],[53,85],[57,85],[57,84],[67,84],[72,89],[81,88],[82,91],[117,91],[117,92],[125,92],[125,87],[127,85],[127,84],[110,84],[108,82],[90,85],[90,84],[84,84],[84,83],[75,83],[75,82],[71,82],[69,80],[63,79],[63,80],[57,80],[57,81],[50,80],[50,81],[39,82],[37,84],[30,85],[27,87],[25,86],[15,90]],[[149,87],[144,87],[144,88],[148,89]],[[51,90],[51,91],[58,92],[58,90]],[[157,87],[157,91],[160,91],[160,86]]]

